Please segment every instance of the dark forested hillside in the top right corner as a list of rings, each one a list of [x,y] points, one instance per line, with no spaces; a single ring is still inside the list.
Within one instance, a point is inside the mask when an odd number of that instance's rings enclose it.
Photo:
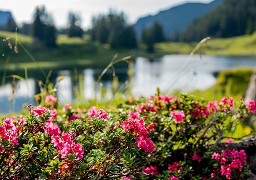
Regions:
[[[256,30],[255,17],[256,2],[254,0],[224,0],[222,5],[192,22],[185,32],[180,33],[179,40],[199,41],[207,36],[250,35]]]

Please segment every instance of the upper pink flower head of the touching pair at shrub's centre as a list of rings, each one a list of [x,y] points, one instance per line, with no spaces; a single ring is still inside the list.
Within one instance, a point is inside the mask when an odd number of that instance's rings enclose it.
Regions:
[[[132,134],[138,134],[139,136],[146,136],[147,129],[144,125],[144,120],[141,118],[140,120],[131,118],[128,121],[123,121],[121,124],[124,127],[124,131],[129,131]]]

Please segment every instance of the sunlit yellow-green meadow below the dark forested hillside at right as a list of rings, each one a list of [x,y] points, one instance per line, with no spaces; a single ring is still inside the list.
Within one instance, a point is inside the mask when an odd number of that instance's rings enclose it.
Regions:
[[[156,48],[160,53],[188,54],[195,45],[196,43],[159,43]],[[198,52],[207,55],[255,56],[256,32],[253,35],[209,40]]]

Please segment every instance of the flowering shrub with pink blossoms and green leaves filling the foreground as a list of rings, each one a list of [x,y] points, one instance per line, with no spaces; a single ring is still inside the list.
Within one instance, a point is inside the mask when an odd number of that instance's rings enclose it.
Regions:
[[[221,150],[226,132],[255,102],[188,95],[130,99],[114,110],[29,106],[27,117],[0,120],[1,179],[233,179],[244,150]]]

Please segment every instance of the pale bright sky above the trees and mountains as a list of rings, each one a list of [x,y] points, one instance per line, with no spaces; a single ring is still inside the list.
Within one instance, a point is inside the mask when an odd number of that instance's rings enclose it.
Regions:
[[[10,11],[14,20],[31,22],[35,7],[45,5],[51,13],[57,27],[64,27],[68,20],[68,12],[76,12],[81,16],[83,28],[89,28],[92,16],[107,13],[109,9],[124,11],[128,21],[136,22],[138,18],[153,15],[160,10],[180,5],[185,2],[211,2],[212,0],[1,0],[0,10]]]

